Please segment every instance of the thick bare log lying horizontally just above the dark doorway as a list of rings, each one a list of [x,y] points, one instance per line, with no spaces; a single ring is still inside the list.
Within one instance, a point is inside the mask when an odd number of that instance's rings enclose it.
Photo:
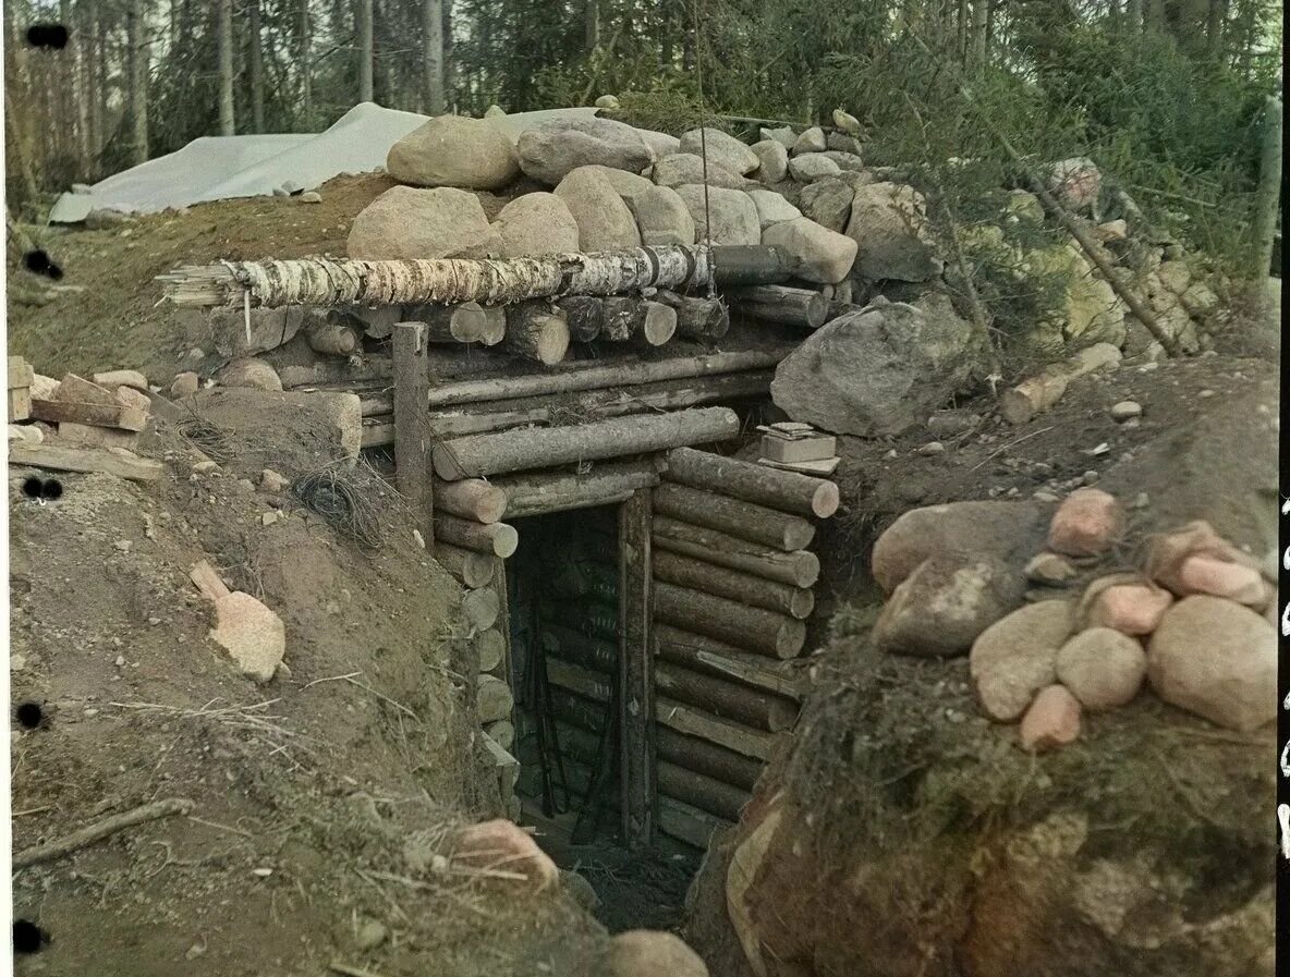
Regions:
[[[699,407],[562,428],[454,438],[435,446],[433,461],[441,478],[457,481],[700,445],[722,441],[738,432],[739,418],[733,410]]]

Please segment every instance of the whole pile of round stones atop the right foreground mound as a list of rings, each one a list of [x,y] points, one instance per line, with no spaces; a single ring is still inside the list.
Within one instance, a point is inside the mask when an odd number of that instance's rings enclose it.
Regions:
[[[1075,741],[1085,710],[1125,706],[1144,683],[1226,728],[1275,719],[1275,566],[1192,522],[1148,540],[1138,568],[1106,572],[1126,550],[1125,527],[1120,503],[1091,487],[1055,510],[986,501],[906,513],[873,549],[889,594],[873,639],[893,653],[966,652],[982,710],[1020,721],[1027,749]]]

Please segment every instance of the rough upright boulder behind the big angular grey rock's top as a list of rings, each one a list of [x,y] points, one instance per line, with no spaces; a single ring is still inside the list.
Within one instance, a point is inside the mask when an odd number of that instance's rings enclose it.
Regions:
[[[926,201],[912,187],[858,184],[846,233],[860,245],[855,268],[868,281],[929,281],[944,267],[931,250]]]

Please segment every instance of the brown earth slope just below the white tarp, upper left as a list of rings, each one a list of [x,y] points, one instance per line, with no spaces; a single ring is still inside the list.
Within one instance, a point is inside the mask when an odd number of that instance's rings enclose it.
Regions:
[[[246,197],[150,214],[106,231],[52,228],[40,244],[63,269],[59,285],[84,290],[37,307],[18,304],[10,294],[9,352],[53,376],[137,369],[154,383],[169,383],[188,352],[188,330],[183,311],[157,305],[157,275],[221,259],[343,255],[353,218],[393,186],[383,174],[338,177],[319,188],[320,204]],[[477,196],[490,219],[506,204],[491,193]],[[19,258],[9,255],[10,269]]]

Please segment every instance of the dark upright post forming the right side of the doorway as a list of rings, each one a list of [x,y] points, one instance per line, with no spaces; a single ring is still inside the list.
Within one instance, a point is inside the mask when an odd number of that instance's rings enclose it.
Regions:
[[[619,769],[623,838],[628,848],[654,840],[654,656],[650,644],[650,490],[618,510]]]

